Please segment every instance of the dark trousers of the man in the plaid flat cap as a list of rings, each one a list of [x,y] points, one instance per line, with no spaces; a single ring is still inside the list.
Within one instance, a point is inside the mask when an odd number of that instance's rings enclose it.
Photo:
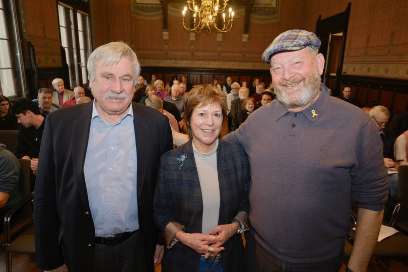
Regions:
[[[258,244],[253,235],[245,233],[245,271],[246,272],[338,272],[345,256],[344,252],[334,258],[311,263],[293,263],[271,255]]]

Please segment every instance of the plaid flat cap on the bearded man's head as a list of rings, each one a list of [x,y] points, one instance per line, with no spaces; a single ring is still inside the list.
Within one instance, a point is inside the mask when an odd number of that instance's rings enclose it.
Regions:
[[[316,34],[301,29],[288,30],[276,37],[266,48],[262,54],[262,60],[269,63],[270,57],[277,52],[300,50],[307,46],[319,51],[320,40]]]

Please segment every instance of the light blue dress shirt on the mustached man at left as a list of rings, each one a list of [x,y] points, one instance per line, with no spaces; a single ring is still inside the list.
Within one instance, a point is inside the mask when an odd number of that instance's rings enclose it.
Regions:
[[[84,174],[96,236],[139,229],[133,118],[130,104],[116,124],[105,122],[94,101]]]

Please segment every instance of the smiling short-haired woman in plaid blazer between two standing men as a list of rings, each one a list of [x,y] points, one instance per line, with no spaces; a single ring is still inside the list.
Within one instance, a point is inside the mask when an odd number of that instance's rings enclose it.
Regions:
[[[249,229],[249,164],[219,140],[227,105],[201,85],[184,96],[190,141],[161,157],[154,222],[166,245],[162,271],[241,271]]]

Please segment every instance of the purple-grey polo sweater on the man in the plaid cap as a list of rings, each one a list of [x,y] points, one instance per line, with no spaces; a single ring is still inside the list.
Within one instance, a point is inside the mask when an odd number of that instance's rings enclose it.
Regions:
[[[249,157],[255,239],[289,262],[339,255],[350,201],[381,211],[388,193],[381,140],[369,115],[330,97],[323,85],[320,91],[302,112],[274,100],[224,137]]]

